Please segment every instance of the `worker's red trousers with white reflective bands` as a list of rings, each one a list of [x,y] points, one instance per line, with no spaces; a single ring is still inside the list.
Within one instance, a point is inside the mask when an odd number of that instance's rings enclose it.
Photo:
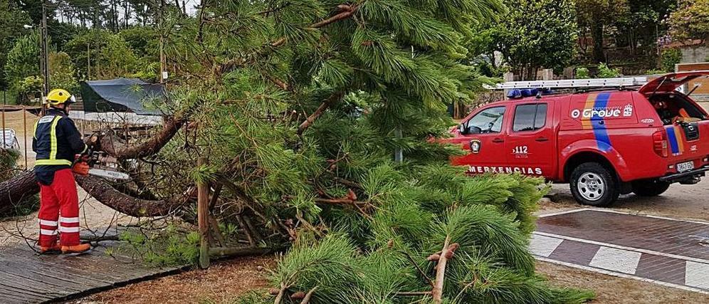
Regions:
[[[79,244],[79,196],[71,169],[54,172],[50,186],[40,184],[39,246]]]

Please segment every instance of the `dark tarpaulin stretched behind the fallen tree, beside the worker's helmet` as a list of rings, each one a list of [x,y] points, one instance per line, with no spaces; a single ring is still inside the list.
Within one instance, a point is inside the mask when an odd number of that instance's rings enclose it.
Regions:
[[[134,112],[161,115],[159,105],[167,99],[164,87],[140,79],[117,78],[81,83],[85,112]]]

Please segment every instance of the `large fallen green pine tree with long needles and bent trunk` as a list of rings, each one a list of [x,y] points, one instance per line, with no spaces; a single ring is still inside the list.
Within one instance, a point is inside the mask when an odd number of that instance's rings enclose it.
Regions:
[[[95,199],[189,222],[191,189],[209,182],[213,229],[261,251],[291,247],[271,270],[273,295],[246,302],[591,297],[535,274],[526,246],[541,179],[468,177],[448,164],[460,148],[431,140],[455,125],[446,105],[470,103],[488,82],[468,43],[474,24],[504,11],[501,1],[216,4],[164,15],[178,71],[164,106],[174,118],[130,145],[97,135],[132,181],[79,178]],[[8,183],[30,189],[28,177]]]

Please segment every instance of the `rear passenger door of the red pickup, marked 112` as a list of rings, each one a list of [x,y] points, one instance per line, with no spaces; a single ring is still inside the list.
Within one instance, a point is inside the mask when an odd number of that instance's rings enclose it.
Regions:
[[[506,171],[553,177],[556,138],[552,127],[554,107],[547,103],[514,105],[512,123],[505,142]]]

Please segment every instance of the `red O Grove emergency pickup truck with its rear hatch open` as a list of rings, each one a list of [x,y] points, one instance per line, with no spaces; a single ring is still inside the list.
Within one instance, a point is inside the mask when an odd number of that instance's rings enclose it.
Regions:
[[[520,172],[569,183],[574,199],[592,206],[696,184],[709,171],[709,114],[676,89],[704,75],[484,105],[445,140],[469,150],[451,162],[470,174]]]

